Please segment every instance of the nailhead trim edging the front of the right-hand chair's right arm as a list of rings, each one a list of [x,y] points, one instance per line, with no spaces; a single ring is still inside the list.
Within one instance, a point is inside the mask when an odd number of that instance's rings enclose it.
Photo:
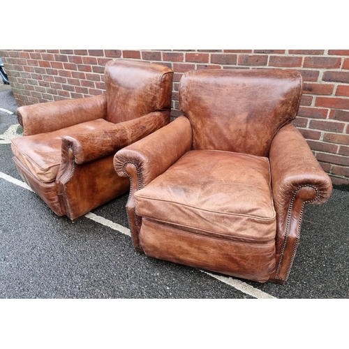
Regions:
[[[293,260],[295,259],[295,255],[296,255],[296,251],[297,251],[297,248],[298,248],[298,245],[299,245],[299,240],[300,240],[300,230],[301,230],[301,223],[302,223],[302,219],[303,219],[303,214],[304,214],[304,207],[306,204],[309,204],[311,202],[314,202],[316,200],[318,200],[319,196],[320,196],[320,192],[318,191],[318,188],[316,188],[315,186],[311,186],[309,184],[303,184],[302,186],[299,186],[295,193],[293,194],[292,196],[292,200],[290,202],[290,206],[288,208],[288,217],[287,217],[287,223],[286,223],[286,229],[285,229],[285,239],[283,241],[283,247],[281,249],[281,255],[280,255],[280,258],[279,258],[279,263],[278,263],[278,267],[276,268],[276,274],[275,274],[275,279],[277,280],[283,280],[281,278],[279,278],[277,275],[280,271],[280,267],[281,267],[281,262],[283,260],[283,253],[285,252],[285,248],[286,248],[286,245],[287,245],[287,240],[288,240],[288,233],[289,233],[289,230],[290,230],[290,222],[291,222],[291,214],[292,214],[292,208],[293,208],[293,204],[295,203],[295,198],[296,198],[296,195],[298,193],[298,191],[302,188],[305,188],[305,187],[308,187],[308,188],[313,188],[316,192],[316,196],[313,200],[307,200],[307,201],[304,201],[303,202],[303,205],[302,205],[302,209],[301,211],[299,212],[299,219],[298,219],[298,226],[297,226],[297,238],[296,238],[296,242],[295,242],[295,246],[293,248],[293,251],[292,251],[292,256],[290,258],[290,263],[288,265],[288,271],[286,273],[286,276],[285,276],[285,280],[284,281],[287,281],[288,279],[288,276],[290,275],[290,272],[291,272],[291,267],[292,267],[292,262]]]

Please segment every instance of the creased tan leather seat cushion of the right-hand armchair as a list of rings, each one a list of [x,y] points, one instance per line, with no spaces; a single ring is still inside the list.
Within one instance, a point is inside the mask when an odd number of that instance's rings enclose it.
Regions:
[[[275,239],[268,158],[188,151],[135,193],[136,213],[172,228],[240,242]]]

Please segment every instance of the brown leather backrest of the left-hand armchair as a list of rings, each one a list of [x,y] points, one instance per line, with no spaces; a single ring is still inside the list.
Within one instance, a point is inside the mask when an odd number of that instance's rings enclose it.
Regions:
[[[119,59],[105,65],[107,121],[117,124],[170,110],[173,71],[148,61]]]

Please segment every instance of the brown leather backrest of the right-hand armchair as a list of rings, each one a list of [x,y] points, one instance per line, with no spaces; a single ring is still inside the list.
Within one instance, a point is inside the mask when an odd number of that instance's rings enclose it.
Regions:
[[[268,156],[277,131],[297,116],[296,70],[191,70],[181,77],[179,107],[191,121],[193,149]]]

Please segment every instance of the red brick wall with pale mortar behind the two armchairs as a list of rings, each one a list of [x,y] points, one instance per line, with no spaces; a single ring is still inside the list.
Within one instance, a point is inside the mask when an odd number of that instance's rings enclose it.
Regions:
[[[304,78],[295,125],[335,185],[349,184],[349,50],[1,50],[18,105],[103,94],[104,65],[128,58],[174,70],[172,119],[181,75],[191,69],[292,68]]]

